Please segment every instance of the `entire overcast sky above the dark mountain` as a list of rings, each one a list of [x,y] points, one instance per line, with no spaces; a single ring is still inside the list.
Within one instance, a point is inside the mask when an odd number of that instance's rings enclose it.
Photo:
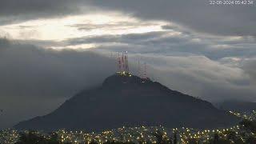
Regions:
[[[256,101],[256,2],[1,0],[0,129],[146,62],[150,78],[210,102]]]

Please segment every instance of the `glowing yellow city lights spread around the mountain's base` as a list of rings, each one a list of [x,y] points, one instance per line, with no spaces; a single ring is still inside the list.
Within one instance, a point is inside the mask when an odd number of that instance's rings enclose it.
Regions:
[[[251,114],[238,114],[230,112],[239,118],[255,122],[256,113],[253,111]],[[0,143],[15,143],[18,142],[21,133],[29,134],[30,131],[17,131],[17,130],[2,130],[0,131]],[[33,131],[33,134],[40,135],[43,138],[50,139],[51,134],[46,134],[40,131]],[[159,143],[159,141],[165,142],[177,142],[177,143],[207,143],[214,139],[214,136],[218,134],[218,138],[229,140],[230,134],[233,134],[235,138],[238,138],[241,142],[246,142],[248,138],[255,138],[251,130],[248,130],[244,125],[239,124],[229,128],[222,129],[209,129],[209,130],[197,130],[193,128],[174,128],[167,129],[163,126],[140,126],[140,127],[125,127],[118,128],[116,130],[106,130],[101,133],[86,133],[84,131],[68,131],[58,130],[54,134],[57,134],[59,142],[62,143],[106,143],[106,142],[130,142],[130,143]]]

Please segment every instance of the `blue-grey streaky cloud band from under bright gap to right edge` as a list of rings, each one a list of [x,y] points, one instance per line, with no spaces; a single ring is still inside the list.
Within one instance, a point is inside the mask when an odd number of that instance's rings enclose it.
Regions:
[[[177,34],[178,33],[178,34]],[[68,45],[96,43],[103,50],[126,49],[133,53],[163,55],[204,55],[218,60],[221,58],[250,58],[256,55],[254,39],[241,38],[224,40],[222,37],[204,38],[182,30],[150,32],[143,34],[103,35],[71,38]]]

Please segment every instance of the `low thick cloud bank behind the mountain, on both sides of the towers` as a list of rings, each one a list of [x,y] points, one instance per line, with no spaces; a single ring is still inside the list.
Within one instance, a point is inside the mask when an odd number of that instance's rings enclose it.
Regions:
[[[95,51],[105,51],[110,56],[110,51],[129,50],[121,47],[98,47]],[[4,110],[0,127],[47,114],[66,98],[97,86],[116,70],[116,53],[108,58],[89,50],[46,50],[6,39],[1,39],[0,48],[0,106]],[[138,58],[147,62],[150,78],[172,90],[211,102],[256,99],[253,58],[234,67],[226,65],[232,63],[228,60],[218,62],[202,55],[131,52],[134,74],[138,74]]]

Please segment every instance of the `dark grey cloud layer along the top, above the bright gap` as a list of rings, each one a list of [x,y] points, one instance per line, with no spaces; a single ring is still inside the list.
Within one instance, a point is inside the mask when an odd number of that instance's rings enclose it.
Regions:
[[[175,22],[192,30],[218,35],[256,35],[255,4],[252,6],[211,6],[205,0],[2,0],[0,23],[21,19],[48,18],[94,10],[120,10],[138,18]],[[168,26],[163,28],[168,29]]]

